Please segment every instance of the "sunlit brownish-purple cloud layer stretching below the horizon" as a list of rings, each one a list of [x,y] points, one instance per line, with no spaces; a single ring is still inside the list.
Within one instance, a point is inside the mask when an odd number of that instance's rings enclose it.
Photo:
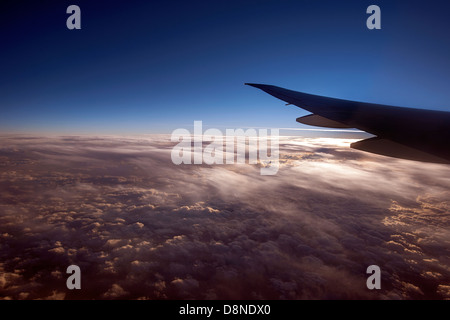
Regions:
[[[283,137],[261,176],[176,166],[168,136],[4,136],[0,297],[450,298],[450,167],[349,143]]]

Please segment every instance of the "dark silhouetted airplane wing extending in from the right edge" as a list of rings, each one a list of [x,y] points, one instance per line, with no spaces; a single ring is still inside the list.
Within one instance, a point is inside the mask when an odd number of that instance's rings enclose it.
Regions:
[[[272,85],[246,83],[311,112],[297,122],[356,128],[375,137],[350,147],[385,156],[450,164],[450,112],[327,98]]]

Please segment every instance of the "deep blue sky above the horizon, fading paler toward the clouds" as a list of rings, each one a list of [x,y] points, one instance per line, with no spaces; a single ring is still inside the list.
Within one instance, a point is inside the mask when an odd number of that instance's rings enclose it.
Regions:
[[[66,8],[81,8],[81,30]],[[366,28],[381,8],[382,29]],[[297,127],[244,82],[450,111],[448,1],[2,1],[0,131]]]

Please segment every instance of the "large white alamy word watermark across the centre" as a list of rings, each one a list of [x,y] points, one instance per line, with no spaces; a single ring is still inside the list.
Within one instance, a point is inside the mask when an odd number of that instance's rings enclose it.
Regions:
[[[269,134],[270,130],[270,134]],[[274,175],[279,168],[279,129],[215,128],[203,132],[202,121],[194,121],[194,132],[176,129],[171,141],[172,162],[179,164],[258,164],[261,175]]]

